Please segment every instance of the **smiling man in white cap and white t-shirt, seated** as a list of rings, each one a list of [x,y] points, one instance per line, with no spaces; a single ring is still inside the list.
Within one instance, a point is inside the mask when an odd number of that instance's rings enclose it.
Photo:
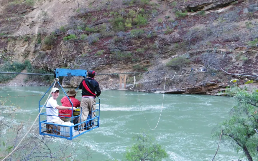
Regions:
[[[65,107],[65,106],[59,106],[56,102],[57,97],[59,96],[59,89],[58,88],[53,88],[51,91],[52,97],[50,97],[47,100],[47,104],[46,107],[48,107],[46,109],[47,111],[47,115],[52,115],[52,116],[47,116],[47,122],[49,123],[54,123],[54,124],[62,124],[64,123],[63,120],[61,120],[58,117],[58,109],[73,109],[75,110],[75,107]],[[54,133],[60,133],[60,126],[56,126],[56,125],[46,125],[46,132],[50,133],[52,130],[54,131]]]

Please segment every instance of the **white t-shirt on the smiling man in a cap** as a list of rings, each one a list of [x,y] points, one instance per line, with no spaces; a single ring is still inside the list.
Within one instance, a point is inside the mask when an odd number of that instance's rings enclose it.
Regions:
[[[47,108],[47,114],[49,115],[55,115],[55,116],[47,116],[47,122],[57,122],[60,120],[58,117],[58,109],[56,107],[58,104],[56,103],[56,100],[53,99],[53,97],[50,97],[50,99],[47,100],[47,105],[46,107],[52,107],[52,108]]]

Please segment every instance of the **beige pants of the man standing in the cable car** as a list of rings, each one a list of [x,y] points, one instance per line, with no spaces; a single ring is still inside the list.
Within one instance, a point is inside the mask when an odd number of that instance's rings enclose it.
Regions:
[[[95,112],[91,111],[91,107],[92,107],[93,111],[96,110],[95,104],[96,104],[96,99],[95,98],[82,98],[81,99],[81,101],[80,101],[80,107],[82,107],[82,109],[80,111],[81,122],[87,120],[89,112],[91,112],[91,118],[96,116]],[[85,125],[85,122],[83,124],[81,124],[81,127],[84,127],[84,125]]]

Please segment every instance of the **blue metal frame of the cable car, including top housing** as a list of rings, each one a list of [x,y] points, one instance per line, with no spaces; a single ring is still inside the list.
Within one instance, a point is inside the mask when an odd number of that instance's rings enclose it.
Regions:
[[[87,76],[87,71],[86,70],[77,70],[77,69],[55,69],[55,76],[58,78],[58,77],[61,77],[61,76],[82,76],[82,77],[86,77]],[[63,89],[63,87],[61,86],[61,84],[57,81],[57,84],[61,87],[61,89],[63,90],[63,92],[65,93],[66,97],[68,97],[68,95],[66,94],[65,90]],[[54,83],[52,83],[52,85],[49,87],[49,89],[47,90],[47,92],[50,91],[50,89],[53,87]],[[78,89],[78,88],[77,88]],[[77,90],[76,89],[76,90]],[[40,102],[41,100],[43,99],[43,97],[45,97],[45,95],[47,94],[47,92],[42,96],[42,98],[40,99],[39,101],[39,112],[40,112],[40,108],[43,107],[43,105],[40,105]],[[69,97],[68,97],[69,98]],[[70,100],[70,99],[69,99]],[[70,103],[73,107],[73,103],[71,102],[70,100]],[[53,115],[47,115],[46,112],[42,112],[40,113],[40,116],[39,116],[39,133],[40,135],[48,135],[48,136],[53,136],[53,137],[60,137],[60,138],[65,138],[65,139],[68,139],[68,140],[72,140],[86,132],[89,132],[93,129],[96,129],[99,127],[99,117],[100,117],[100,98],[98,97],[98,102],[96,102],[95,104],[96,106],[96,110],[95,111],[92,111],[92,112],[98,112],[98,115],[96,115],[96,117],[94,118],[90,118],[90,119],[87,119],[86,121],[83,121],[81,122],[81,119],[79,119],[79,123],[78,124],[75,124],[73,125],[73,123],[71,123],[71,126],[68,126],[68,125],[60,125],[60,124],[54,124],[54,123],[49,123],[47,122],[47,120],[40,120],[40,117],[41,116],[53,116]],[[98,108],[97,108],[98,106]],[[50,108],[50,107],[44,107],[44,108]],[[81,110],[81,107],[79,107],[80,110]],[[91,107],[92,108],[92,107]],[[71,109],[72,110],[72,109]],[[72,110],[72,116],[71,117],[66,117],[66,118],[71,118],[71,120],[73,120],[73,118],[75,117],[80,117],[81,115],[79,114],[78,116],[73,116],[73,110]],[[78,125],[81,125],[82,123],[86,123],[90,120],[93,120],[93,119],[97,119],[97,125],[96,126],[93,126],[93,124],[91,125],[88,125],[88,126],[92,126],[91,129],[89,130],[83,130],[83,131],[80,131],[79,129],[76,130],[74,132],[74,136],[73,136],[73,129],[75,126],[78,126]],[[73,122],[73,121],[71,121]],[[43,124],[43,125],[42,125]],[[60,134],[54,134],[54,133],[47,133],[46,130],[48,130],[46,128],[46,125],[49,124],[49,125],[54,125],[54,126],[61,126],[61,127],[70,127],[70,136],[61,136]],[[87,126],[87,125],[86,125]],[[88,127],[87,126],[87,127]],[[57,130],[57,129],[56,129]],[[60,132],[60,131],[59,131]]]

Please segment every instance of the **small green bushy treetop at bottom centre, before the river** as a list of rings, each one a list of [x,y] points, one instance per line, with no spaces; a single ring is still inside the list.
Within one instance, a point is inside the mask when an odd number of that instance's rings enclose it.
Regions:
[[[133,140],[137,143],[126,149],[125,158],[128,161],[161,161],[168,157],[167,152],[161,145],[153,143],[153,139],[146,133],[134,135]]]

